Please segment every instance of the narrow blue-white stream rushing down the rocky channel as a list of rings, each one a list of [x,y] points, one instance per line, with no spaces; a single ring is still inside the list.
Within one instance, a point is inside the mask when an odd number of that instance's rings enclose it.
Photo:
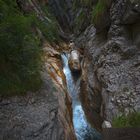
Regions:
[[[63,61],[63,72],[66,76],[67,89],[72,98],[73,124],[77,140],[101,140],[101,134],[90,126],[87,122],[84,111],[79,99],[80,92],[80,74],[73,76],[69,65],[68,55],[61,55]]]

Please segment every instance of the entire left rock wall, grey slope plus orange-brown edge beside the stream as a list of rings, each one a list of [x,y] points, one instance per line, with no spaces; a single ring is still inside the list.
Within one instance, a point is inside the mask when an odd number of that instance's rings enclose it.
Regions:
[[[66,90],[59,53],[45,43],[44,55],[44,84],[40,91],[0,97],[1,140],[76,139],[71,99]]]

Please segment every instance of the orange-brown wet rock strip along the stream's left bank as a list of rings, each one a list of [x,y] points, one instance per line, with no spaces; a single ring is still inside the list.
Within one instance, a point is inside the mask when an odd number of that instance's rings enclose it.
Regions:
[[[75,133],[72,122],[72,103],[71,98],[67,92],[66,78],[63,73],[62,61],[57,55],[60,55],[59,51],[52,48],[47,42],[44,44],[45,50],[45,68],[47,69],[50,77],[52,78],[55,85],[61,92],[56,92],[58,103],[59,103],[59,120],[62,122],[64,134],[66,140],[75,140]],[[59,47],[58,47],[59,48]],[[64,47],[65,48],[65,47]],[[51,56],[50,56],[51,53]]]

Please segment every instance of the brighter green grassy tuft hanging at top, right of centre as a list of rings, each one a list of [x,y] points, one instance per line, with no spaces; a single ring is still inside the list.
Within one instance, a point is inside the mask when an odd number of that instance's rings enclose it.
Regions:
[[[104,13],[109,8],[111,0],[98,0],[98,3],[92,10],[92,22],[99,24],[100,19],[104,16]]]

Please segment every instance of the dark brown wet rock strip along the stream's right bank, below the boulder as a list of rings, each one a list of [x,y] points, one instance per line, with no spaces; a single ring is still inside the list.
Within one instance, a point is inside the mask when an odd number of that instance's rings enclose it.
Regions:
[[[82,71],[82,80],[80,85],[80,99],[86,117],[90,124],[97,130],[101,130],[103,118],[101,117],[101,88],[95,74],[92,73],[93,67],[90,60],[85,60]],[[88,67],[88,69],[86,69]]]

